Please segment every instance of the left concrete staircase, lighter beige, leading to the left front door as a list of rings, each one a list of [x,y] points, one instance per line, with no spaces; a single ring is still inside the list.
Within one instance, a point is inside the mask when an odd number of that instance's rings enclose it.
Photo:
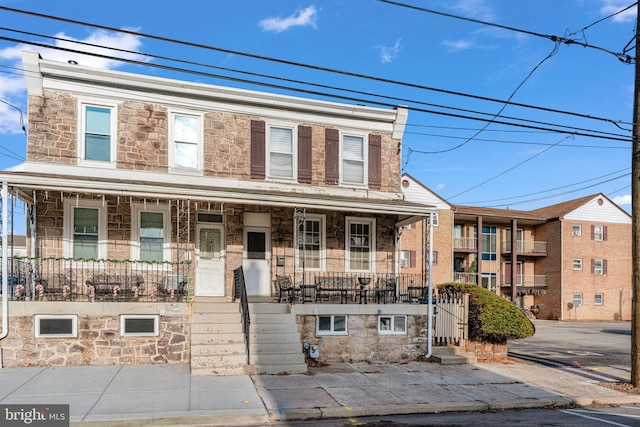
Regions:
[[[197,300],[192,316],[191,374],[248,374],[240,305],[223,298]]]

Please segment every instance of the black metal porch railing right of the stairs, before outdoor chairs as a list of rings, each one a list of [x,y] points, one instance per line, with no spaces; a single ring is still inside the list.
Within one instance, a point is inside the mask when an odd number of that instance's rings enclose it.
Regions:
[[[301,277],[296,275],[298,280]],[[280,301],[302,303],[427,302],[428,277],[422,274],[306,272],[304,278],[304,283],[294,283],[293,298],[282,298],[276,280],[272,295]]]

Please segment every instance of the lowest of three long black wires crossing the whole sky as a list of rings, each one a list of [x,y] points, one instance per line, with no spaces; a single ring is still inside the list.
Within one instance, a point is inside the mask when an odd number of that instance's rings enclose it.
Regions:
[[[0,7],[0,9],[1,8],[2,7]],[[109,55],[104,55],[104,54],[98,54],[98,53],[93,53],[93,52],[83,52],[83,51],[79,51],[79,50],[76,50],[76,49],[64,48],[64,47],[61,47],[61,46],[51,46],[51,45],[47,45],[47,44],[43,44],[43,43],[37,43],[37,42],[28,42],[26,40],[19,40],[19,39],[15,39],[15,38],[11,38],[11,37],[0,36],[0,40],[6,40],[6,41],[14,42],[14,43],[23,43],[23,44],[27,44],[27,45],[39,46],[39,47],[44,47],[44,48],[48,48],[48,49],[61,50],[61,51],[71,52],[71,53],[76,53],[76,54],[95,56],[95,57],[98,57],[98,58],[110,59],[110,60],[114,60],[114,61],[121,61],[121,62],[130,63],[130,64],[142,65],[142,66],[146,66],[146,67],[159,68],[159,69],[168,70],[168,71],[191,73],[191,74],[195,74],[195,75],[218,78],[218,79],[229,80],[229,81],[234,81],[234,82],[240,82],[240,83],[245,83],[245,84],[254,84],[254,85],[257,84],[257,85],[261,85],[261,86],[265,86],[265,87],[269,87],[269,88],[274,88],[274,89],[295,91],[295,92],[301,92],[301,93],[306,93],[306,94],[316,95],[316,96],[331,97],[331,98],[351,101],[351,102],[360,103],[360,104],[369,103],[369,104],[372,104],[372,105],[378,105],[378,106],[383,106],[383,107],[388,107],[388,108],[396,108],[397,107],[396,104],[385,103],[385,102],[375,101],[375,100],[371,100],[371,99],[355,98],[355,97],[349,97],[349,96],[343,96],[343,95],[337,95],[337,94],[327,94],[327,93],[318,92],[318,91],[312,91],[312,90],[301,89],[301,88],[292,88],[292,87],[276,85],[276,84],[272,84],[272,83],[256,82],[256,81],[252,81],[252,80],[239,79],[239,78],[230,77],[230,76],[223,76],[223,75],[216,75],[216,74],[206,73],[206,72],[203,72],[203,71],[188,70],[188,69],[178,68],[178,67],[173,67],[173,66],[168,66],[168,65],[151,64],[151,63],[146,63],[146,62],[138,61],[138,60],[134,60],[134,59],[119,58],[119,57],[114,57],[114,56],[109,56]],[[411,110],[415,111],[415,112],[442,115],[442,116],[447,116],[447,117],[452,117],[452,118],[460,118],[460,119],[467,119],[467,120],[476,120],[476,121],[482,121],[482,122],[486,122],[486,120],[487,120],[487,119],[483,119],[483,118],[480,118],[480,117],[465,116],[465,115],[461,115],[461,114],[454,114],[454,113],[448,113],[448,112],[442,112],[442,111],[436,111],[436,110],[429,110],[429,109],[418,108],[418,107],[411,107]],[[518,119],[518,120],[524,120],[524,119]],[[502,125],[506,125],[506,126],[516,126],[516,127],[522,127],[522,128],[534,129],[534,130],[543,130],[543,131],[549,131],[549,132],[555,132],[555,133],[561,133],[561,134],[567,134],[567,135],[575,135],[575,136],[585,136],[585,137],[590,137],[590,138],[607,139],[607,140],[612,140],[612,141],[624,141],[624,142],[630,142],[631,141],[631,139],[629,137],[626,137],[626,136],[623,136],[623,135],[618,135],[618,134],[597,135],[597,134],[594,134],[594,133],[586,133],[586,132],[601,133],[601,131],[591,131],[591,130],[585,130],[585,129],[581,129],[581,128],[568,127],[569,129],[577,129],[577,130],[553,129],[553,128],[546,128],[546,127],[537,126],[537,125],[526,125],[526,124],[522,124],[522,123],[510,123],[510,122],[506,122],[506,121],[502,121],[502,120],[493,120],[492,123],[502,124]],[[552,126],[562,127],[563,125],[552,125]]]

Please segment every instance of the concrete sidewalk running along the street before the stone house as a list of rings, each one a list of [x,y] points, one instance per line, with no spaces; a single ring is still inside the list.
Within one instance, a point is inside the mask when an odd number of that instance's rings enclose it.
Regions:
[[[586,372],[519,362],[333,364],[191,376],[188,365],[0,369],[0,404],[69,404],[74,426],[240,426],[372,415],[640,403]]]

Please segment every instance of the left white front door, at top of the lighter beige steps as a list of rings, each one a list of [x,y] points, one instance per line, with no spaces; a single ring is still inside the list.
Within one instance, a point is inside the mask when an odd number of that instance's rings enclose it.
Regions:
[[[224,296],[224,227],[197,225],[196,239],[196,296]]]

